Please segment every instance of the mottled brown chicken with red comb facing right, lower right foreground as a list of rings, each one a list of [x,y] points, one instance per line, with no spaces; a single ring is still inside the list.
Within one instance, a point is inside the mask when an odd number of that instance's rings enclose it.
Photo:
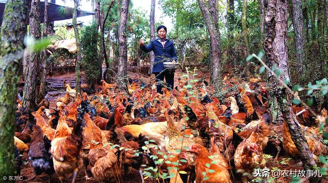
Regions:
[[[252,174],[254,168],[263,168],[263,146],[259,141],[259,136],[269,135],[269,130],[263,130],[265,127],[259,124],[248,139],[244,139],[237,147],[234,161],[236,169],[241,173],[248,172]],[[241,177],[242,182],[247,182],[247,177]]]

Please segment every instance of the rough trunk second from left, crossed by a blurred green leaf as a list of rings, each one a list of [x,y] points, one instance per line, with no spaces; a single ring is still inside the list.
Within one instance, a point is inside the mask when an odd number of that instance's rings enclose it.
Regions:
[[[40,0],[32,0],[30,10],[30,36],[39,40],[41,37],[40,28]],[[35,110],[35,90],[37,82],[38,65],[41,52],[32,52],[26,58],[29,59],[25,77],[23,107]]]

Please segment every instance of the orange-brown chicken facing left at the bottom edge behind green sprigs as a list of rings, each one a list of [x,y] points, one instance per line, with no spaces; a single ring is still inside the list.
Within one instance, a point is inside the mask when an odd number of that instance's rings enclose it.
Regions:
[[[193,144],[190,146],[189,152],[196,154],[196,183],[199,182],[231,182],[230,174],[225,166],[222,166],[220,161],[218,163],[212,163],[214,157],[221,158],[221,161],[225,161],[222,156],[211,154],[206,148],[200,144]],[[210,158],[212,156],[212,159]]]

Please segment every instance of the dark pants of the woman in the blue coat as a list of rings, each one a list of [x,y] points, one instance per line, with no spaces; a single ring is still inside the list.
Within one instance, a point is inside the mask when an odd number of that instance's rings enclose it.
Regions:
[[[170,70],[164,70],[160,73],[154,73],[155,74],[155,79],[156,79],[156,89],[157,89],[157,93],[163,94],[162,93],[162,87],[163,87],[163,82],[164,82],[164,78],[166,80],[166,83],[169,85],[169,87],[167,87],[169,90],[173,89],[173,85],[174,85],[174,71],[170,71]]]

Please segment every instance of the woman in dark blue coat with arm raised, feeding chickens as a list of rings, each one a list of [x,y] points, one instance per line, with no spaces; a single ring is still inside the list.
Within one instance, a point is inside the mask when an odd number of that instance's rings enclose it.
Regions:
[[[174,49],[174,44],[171,40],[166,38],[167,28],[165,26],[158,26],[157,37],[145,45],[144,40],[140,39],[140,49],[144,52],[153,51],[155,55],[152,73],[155,74],[157,93],[162,94],[163,85],[158,82],[163,82],[164,78],[169,89],[173,89],[174,85],[174,70],[166,70],[163,62],[177,61],[177,56]]]

